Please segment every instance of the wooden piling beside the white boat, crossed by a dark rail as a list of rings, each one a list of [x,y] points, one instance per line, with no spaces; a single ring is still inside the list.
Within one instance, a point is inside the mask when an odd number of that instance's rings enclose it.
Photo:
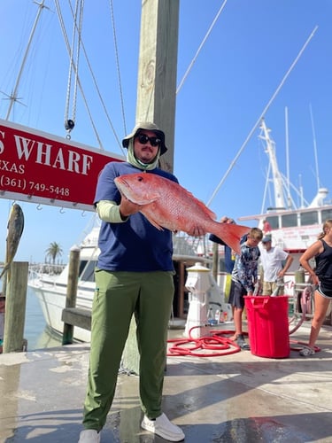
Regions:
[[[70,250],[68,280],[66,291],[66,307],[76,306],[77,285],[80,269],[80,248],[73,246]],[[62,344],[70,345],[73,343],[73,324],[64,323],[64,333]]]

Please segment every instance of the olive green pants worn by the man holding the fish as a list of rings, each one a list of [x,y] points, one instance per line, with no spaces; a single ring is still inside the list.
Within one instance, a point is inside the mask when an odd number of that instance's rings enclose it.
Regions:
[[[167,326],[174,297],[172,272],[97,269],[83,425],[100,431],[112,406],[133,313],[140,354],[140,398],[149,418],[161,414]]]

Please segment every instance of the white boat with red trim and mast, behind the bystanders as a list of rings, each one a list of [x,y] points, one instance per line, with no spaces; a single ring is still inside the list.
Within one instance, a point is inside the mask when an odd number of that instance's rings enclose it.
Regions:
[[[332,219],[332,205],[326,201],[327,188],[319,188],[311,203],[305,204],[303,191],[291,186],[290,181],[282,175],[278,167],[276,150],[271,129],[267,128],[266,120],[261,120],[259,138],[264,142],[265,151],[269,159],[270,175],[266,175],[266,186],[272,183],[274,188],[274,206],[269,206],[261,214],[244,215],[238,217],[241,222],[254,221],[257,226],[272,237],[272,245],[279,246],[291,253],[294,260],[285,277],[285,291],[293,295],[295,273],[300,268],[299,258],[309,245],[317,240],[324,221]],[[296,205],[296,198],[291,197],[290,190],[294,190],[299,198],[300,205]],[[265,229],[267,222],[268,229]]]

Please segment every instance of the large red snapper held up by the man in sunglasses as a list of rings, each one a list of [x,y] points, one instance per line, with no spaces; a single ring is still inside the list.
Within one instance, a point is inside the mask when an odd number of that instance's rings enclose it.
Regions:
[[[160,175],[120,175],[114,179],[114,183],[128,200],[142,206],[140,212],[157,229],[188,233],[191,228],[201,226],[236,253],[240,252],[240,238],[250,230],[246,226],[216,221],[216,215],[202,201],[180,184]]]

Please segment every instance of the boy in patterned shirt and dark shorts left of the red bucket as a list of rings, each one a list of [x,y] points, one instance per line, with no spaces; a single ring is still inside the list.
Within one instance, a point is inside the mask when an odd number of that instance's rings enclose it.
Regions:
[[[232,272],[228,301],[234,307],[235,334],[230,339],[236,341],[237,345],[245,350],[250,350],[250,346],[243,337],[243,296],[253,295],[255,284],[258,283],[259,242],[262,238],[263,232],[261,229],[251,228],[241,244],[240,254],[235,254],[235,264]]]

